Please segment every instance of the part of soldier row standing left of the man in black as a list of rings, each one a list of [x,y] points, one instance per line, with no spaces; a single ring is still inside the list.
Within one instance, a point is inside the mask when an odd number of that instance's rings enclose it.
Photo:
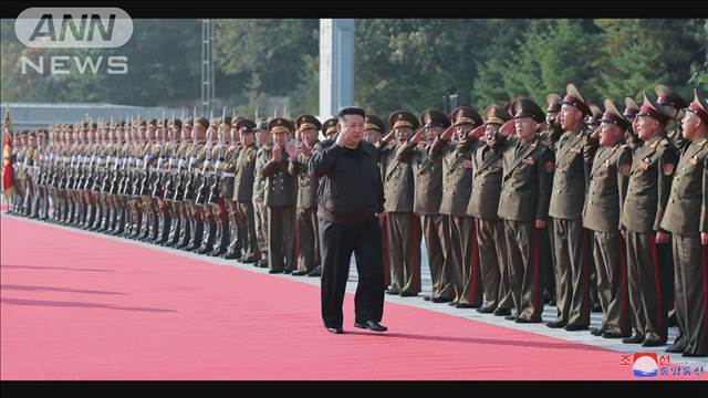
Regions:
[[[10,211],[319,276],[316,188],[303,172],[306,161],[278,168],[269,160],[273,148],[275,157],[309,154],[321,128],[332,134],[333,121],[299,118],[296,143],[284,118],[230,116],[22,132],[14,137]],[[295,231],[295,221],[299,233],[290,237],[284,231]],[[292,254],[269,258],[271,245]]]

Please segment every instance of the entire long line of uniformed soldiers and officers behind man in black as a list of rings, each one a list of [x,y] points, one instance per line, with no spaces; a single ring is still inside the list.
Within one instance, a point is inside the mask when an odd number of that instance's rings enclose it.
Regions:
[[[589,328],[596,302],[594,335],[643,346],[666,344],[675,314],[680,336],[668,350],[708,354],[706,100],[696,91],[688,104],[666,85],[656,94],[642,106],[626,98],[624,112],[606,100],[603,112],[569,84],[545,113],[519,97],[482,115],[367,115],[385,196],[386,293],[420,293],[425,240],[434,303],[539,323],[551,302],[548,326],[573,332]],[[25,186],[46,190],[59,222],[317,275],[308,160],[336,123],[63,126]]]

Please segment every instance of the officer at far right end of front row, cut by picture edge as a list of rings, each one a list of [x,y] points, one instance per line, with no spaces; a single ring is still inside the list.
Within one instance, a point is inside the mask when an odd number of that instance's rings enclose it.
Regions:
[[[698,90],[686,108],[686,145],[676,166],[660,227],[673,234],[676,313],[680,335],[666,350],[708,356],[708,102]]]

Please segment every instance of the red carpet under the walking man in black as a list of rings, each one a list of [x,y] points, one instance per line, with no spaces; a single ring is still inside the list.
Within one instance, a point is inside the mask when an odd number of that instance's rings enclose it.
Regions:
[[[345,335],[320,290],[1,218],[4,379],[629,379],[621,355],[386,304]]]

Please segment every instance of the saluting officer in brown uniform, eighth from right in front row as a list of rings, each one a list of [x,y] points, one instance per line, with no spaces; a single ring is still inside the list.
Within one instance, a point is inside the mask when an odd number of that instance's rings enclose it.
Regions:
[[[418,130],[402,148],[410,153],[416,185],[413,211],[420,217],[423,237],[428,254],[428,266],[433,286],[426,301],[449,303],[455,297],[452,270],[448,263],[448,248],[442,235],[449,231],[449,218],[440,214],[442,200],[442,159],[430,159],[429,149],[435,138],[450,126],[447,116],[437,109],[427,109],[420,115],[424,128]]]

